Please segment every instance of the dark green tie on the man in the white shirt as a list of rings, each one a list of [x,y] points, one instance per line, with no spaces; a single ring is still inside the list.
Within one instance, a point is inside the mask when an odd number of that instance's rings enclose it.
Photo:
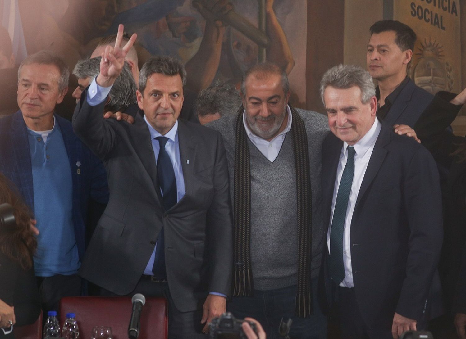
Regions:
[[[333,281],[340,285],[345,278],[343,265],[343,231],[345,229],[346,209],[354,176],[354,147],[348,146],[348,160],[343,170],[342,180],[336,195],[335,210],[330,230],[330,260],[329,271]]]

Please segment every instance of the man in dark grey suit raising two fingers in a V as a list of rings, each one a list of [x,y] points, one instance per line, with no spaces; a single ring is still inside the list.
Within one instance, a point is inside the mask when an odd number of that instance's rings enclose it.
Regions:
[[[139,75],[134,124],[104,120],[107,95],[136,34],[107,46],[100,73],[82,92],[76,135],[99,156],[110,201],[79,271],[118,295],[168,299],[170,338],[204,338],[225,312],[233,269],[233,229],[225,148],[219,132],[178,119],[186,72],[153,57]],[[110,121],[111,120],[111,121]]]

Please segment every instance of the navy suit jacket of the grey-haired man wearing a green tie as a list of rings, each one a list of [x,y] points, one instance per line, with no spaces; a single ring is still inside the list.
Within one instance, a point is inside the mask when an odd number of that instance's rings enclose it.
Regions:
[[[322,146],[327,228],[342,147],[332,133]],[[439,175],[432,156],[382,124],[350,228],[356,300],[369,328],[391,329],[395,312],[423,319],[442,238]]]

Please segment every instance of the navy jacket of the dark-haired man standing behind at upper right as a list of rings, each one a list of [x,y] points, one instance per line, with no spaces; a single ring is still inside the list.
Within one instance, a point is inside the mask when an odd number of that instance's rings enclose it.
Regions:
[[[433,98],[432,94],[418,87],[414,81],[409,79],[388,110],[384,118],[385,124],[388,126],[404,124],[414,127]]]

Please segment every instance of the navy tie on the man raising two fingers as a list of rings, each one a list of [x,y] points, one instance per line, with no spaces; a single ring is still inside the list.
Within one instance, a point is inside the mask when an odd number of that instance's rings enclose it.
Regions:
[[[170,156],[165,150],[165,144],[167,143],[168,138],[165,136],[158,136],[156,139],[160,145],[160,151],[158,152],[157,158],[158,183],[162,190],[162,205],[164,206],[164,212],[166,212],[177,202],[175,171],[173,170],[173,164],[171,163]],[[165,271],[164,243],[164,228],[162,227],[158,235],[154,266],[152,267],[154,276],[159,279],[167,277],[167,273]]]

